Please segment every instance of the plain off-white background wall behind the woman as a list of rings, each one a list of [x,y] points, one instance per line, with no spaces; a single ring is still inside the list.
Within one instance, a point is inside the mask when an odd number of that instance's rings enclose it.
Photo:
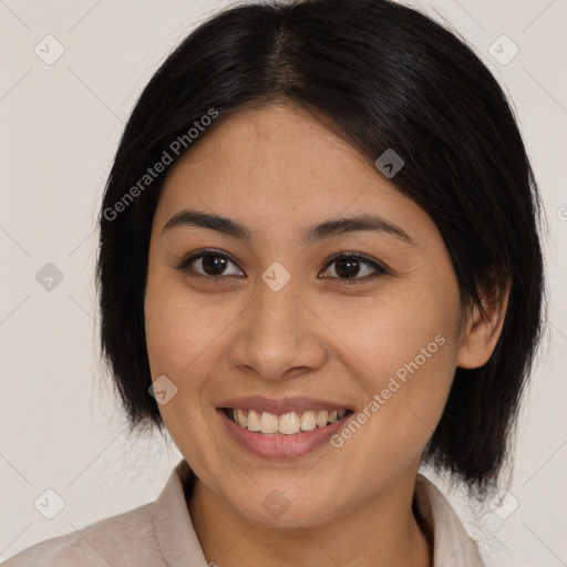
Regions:
[[[408,3],[456,29],[505,85],[548,217],[549,328],[519,419],[509,495],[494,509],[473,508],[435,481],[487,565],[567,565],[567,2]],[[95,219],[142,89],[187,32],[226,6],[0,0],[0,560],[154,499],[181,458],[158,435],[126,440],[99,357]],[[34,52],[55,53],[48,34],[64,48],[52,65]],[[506,64],[489,51],[502,34],[519,49]],[[512,53],[495,49],[501,59]],[[64,276],[51,291],[35,279],[47,262]],[[53,519],[33,504],[47,488],[64,501]]]

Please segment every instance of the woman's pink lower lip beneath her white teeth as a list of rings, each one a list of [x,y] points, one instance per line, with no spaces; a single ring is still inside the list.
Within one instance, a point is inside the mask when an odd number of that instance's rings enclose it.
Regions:
[[[296,458],[307,455],[329,441],[349,421],[349,415],[347,415],[326,427],[316,427],[315,430],[303,431],[295,435],[286,435],[284,433],[264,434],[240,427],[240,425],[237,425],[228,417],[224,410],[217,410],[217,413],[228,434],[238,444],[255,455],[274,460]]]

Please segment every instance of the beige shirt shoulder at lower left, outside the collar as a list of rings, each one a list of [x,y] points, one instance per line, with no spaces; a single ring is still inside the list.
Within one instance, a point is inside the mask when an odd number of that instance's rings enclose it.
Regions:
[[[159,547],[152,515],[155,502],[83,528],[40,542],[14,555],[2,567],[158,566]]]

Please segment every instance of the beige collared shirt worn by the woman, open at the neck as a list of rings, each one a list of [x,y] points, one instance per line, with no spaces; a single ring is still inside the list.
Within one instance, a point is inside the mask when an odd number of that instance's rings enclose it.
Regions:
[[[186,497],[192,473],[185,460],[156,501],[91,524],[80,533],[35,544],[6,567],[208,567]],[[185,487],[185,488],[184,488]],[[475,543],[441,492],[422,475],[415,483],[421,516],[433,533],[434,567],[483,567]],[[221,566],[220,566],[221,567]]]

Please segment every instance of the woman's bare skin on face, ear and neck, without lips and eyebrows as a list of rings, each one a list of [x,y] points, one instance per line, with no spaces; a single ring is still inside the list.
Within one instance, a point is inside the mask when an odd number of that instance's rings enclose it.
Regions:
[[[230,217],[254,238],[163,231],[185,208]],[[308,246],[300,238],[307,226],[364,213],[402,228],[412,244],[368,230]],[[206,276],[203,258],[193,275],[176,269],[202,247],[236,259],[216,276],[221,281]],[[339,251],[362,252],[388,270],[361,262],[359,284],[349,285],[328,261]],[[275,261],[291,276],[279,291],[261,279]],[[279,102],[240,112],[185,154],[154,216],[145,328],[153,379],[166,375],[178,389],[159,411],[198,476],[188,507],[207,561],[432,565],[412,512],[420,458],[455,368],[488,360],[506,295],[486,303],[486,317],[471,309],[462,332],[460,306],[429,215],[302,110]],[[444,344],[340,449],[324,443],[268,461],[237,445],[216,412],[223,400],[258,394],[322,398],[357,413],[437,336]],[[274,518],[262,502],[276,489],[290,506]]]

